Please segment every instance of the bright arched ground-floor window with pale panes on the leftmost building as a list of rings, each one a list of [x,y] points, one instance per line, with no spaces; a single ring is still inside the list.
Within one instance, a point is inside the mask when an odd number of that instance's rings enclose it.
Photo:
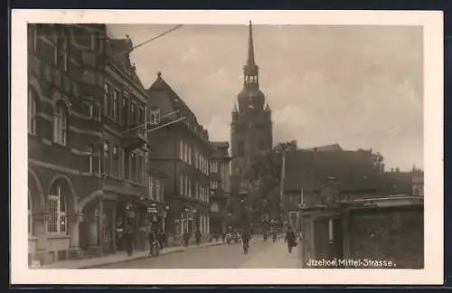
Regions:
[[[47,204],[51,216],[47,221],[47,232],[49,233],[66,233],[68,223],[66,222],[66,201],[64,189],[60,184],[55,186],[54,194],[49,194]]]

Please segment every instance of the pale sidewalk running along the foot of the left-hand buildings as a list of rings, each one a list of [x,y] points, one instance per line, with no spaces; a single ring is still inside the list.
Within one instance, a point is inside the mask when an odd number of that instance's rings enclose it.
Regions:
[[[160,251],[160,255],[165,255],[174,252],[183,252],[185,250],[195,250],[202,247],[209,247],[215,245],[223,244],[222,241],[212,241],[207,243],[202,243],[198,246],[190,245],[187,248],[184,246],[168,247]],[[99,258],[90,258],[83,260],[61,260],[51,263],[49,265],[42,266],[40,269],[91,269],[98,268],[105,265],[118,262],[127,262],[132,260],[141,260],[146,258],[153,258],[154,256],[149,254],[149,251],[134,251],[132,256],[127,256],[127,253],[118,252],[115,254],[107,255]]]

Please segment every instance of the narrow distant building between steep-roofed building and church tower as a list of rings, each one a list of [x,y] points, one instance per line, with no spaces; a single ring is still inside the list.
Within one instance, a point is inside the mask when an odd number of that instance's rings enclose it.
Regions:
[[[211,161],[211,232],[219,235],[226,232],[230,214],[231,156],[229,142],[212,142],[216,152]]]

